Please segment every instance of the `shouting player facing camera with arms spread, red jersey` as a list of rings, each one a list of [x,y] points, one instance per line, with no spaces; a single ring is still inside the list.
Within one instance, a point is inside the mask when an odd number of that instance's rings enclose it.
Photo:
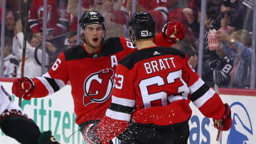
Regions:
[[[123,37],[105,40],[105,21],[98,11],[83,13],[79,25],[84,43],[61,52],[50,70],[41,77],[24,78],[24,87],[21,87],[21,79],[14,80],[12,92],[24,99],[43,97],[57,92],[70,80],[77,115],[75,122],[83,133],[88,124],[98,123],[105,116],[111,102],[112,77],[117,64],[137,49]],[[166,27],[166,31],[172,28]],[[167,33],[166,38],[173,34],[181,38],[178,33]],[[166,42],[168,38],[161,33],[156,37],[161,37],[156,38],[157,45],[173,43]]]

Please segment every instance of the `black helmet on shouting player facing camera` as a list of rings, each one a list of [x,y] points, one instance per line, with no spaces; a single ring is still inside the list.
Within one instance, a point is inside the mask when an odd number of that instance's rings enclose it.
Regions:
[[[79,20],[79,26],[85,29],[88,24],[102,24],[103,30],[105,30],[105,19],[99,11],[85,11]]]

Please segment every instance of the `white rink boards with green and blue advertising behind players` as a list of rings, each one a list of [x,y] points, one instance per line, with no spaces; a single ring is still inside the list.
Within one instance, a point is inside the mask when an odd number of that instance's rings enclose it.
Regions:
[[[0,79],[6,90],[11,94],[11,82]],[[230,131],[223,132],[221,143],[256,143],[256,91],[240,89],[220,89],[223,102],[231,107],[233,126]],[[18,104],[18,99],[14,97]],[[41,131],[51,130],[60,143],[80,144],[82,135],[75,124],[73,99],[70,85],[59,92],[43,99],[23,101],[22,109],[36,122]],[[188,143],[216,143],[217,130],[211,118],[204,117],[191,103],[193,114],[189,121],[190,136]],[[114,143],[118,143],[116,139]],[[1,144],[16,144],[16,140],[0,132]]]

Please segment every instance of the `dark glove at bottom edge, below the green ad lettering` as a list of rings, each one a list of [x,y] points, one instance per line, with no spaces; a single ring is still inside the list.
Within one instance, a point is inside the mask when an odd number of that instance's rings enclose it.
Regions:
[[[37,144],[60,144],[57,140],[51,135],[51,131],[43,132],[38,138]]]

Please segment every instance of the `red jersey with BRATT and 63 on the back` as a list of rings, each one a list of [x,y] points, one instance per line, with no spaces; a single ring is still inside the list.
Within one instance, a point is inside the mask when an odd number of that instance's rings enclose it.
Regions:
[[[188,121],[190,101],[207,117],[220,119],[225,107],[174,48],[145,48],[124,57],[114,75],[112,103],[100,121],[105,142],[122,133],[131,118],[138,125],[164,128]]]

